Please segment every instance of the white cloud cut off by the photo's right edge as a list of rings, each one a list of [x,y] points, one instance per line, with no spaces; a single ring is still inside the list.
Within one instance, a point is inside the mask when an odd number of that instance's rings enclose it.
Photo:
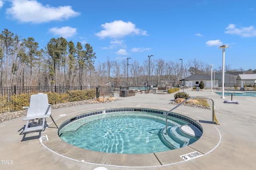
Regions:
[[[254,26],[237,28],[235,24],[230,23],[226,29],[227,31],[225,31],[225,33],[227,34],[240,35],[242,37],[256,36],[256,29]]]

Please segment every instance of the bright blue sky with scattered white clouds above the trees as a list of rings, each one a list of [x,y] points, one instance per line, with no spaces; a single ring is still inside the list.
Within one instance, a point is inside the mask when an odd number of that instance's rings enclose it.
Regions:
[[[191,60],[256,69],[255,0],[0,0],[0,31],[89,43],[96,62]],[[131,59],[131,60],[132,60]],[[130,61],[129,61],[130,62]]]

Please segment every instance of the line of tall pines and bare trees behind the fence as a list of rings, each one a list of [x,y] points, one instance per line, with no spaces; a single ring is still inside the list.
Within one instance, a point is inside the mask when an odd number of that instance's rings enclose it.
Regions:
[[[209,64],[196,59],[181,66],[180,62],[162,59],[149,62],[148,58],[145,57],[142,64],[134,59],[128,63],[128,58],[110,61],[109,57],[95,63],[96,53],[88,43],[83,46],[59,37],[50,39],[46,47],[39,49],[34,38],[21,39],[4,29],[0,34],[0,86],[107,86],[114,82],[119,82],[118,86],[176,86],[181,77],[210,74]],[[222,68],[214,70],[222,72]],[[242,68],[232,70],[230,65],[226,65],[225,70],[256,72]]]

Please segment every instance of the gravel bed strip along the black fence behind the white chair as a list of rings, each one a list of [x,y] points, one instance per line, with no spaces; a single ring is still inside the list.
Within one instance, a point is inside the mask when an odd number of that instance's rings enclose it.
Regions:
[[[104,103],[106,102],[115,102],[117,100],[121,99],[114,99],[114,100],[105,100]],[[97,104],[97,103],[102,103],[96,101],[96,99],[91,99],[91,100],[83,100],[83,101],[78,101],[78,102],[67,102],[67,103],[61,103],[61,104],[54,104],[52,105],[52,109],[58,109],[62,107],[70,107],[70,106],[78,106],[78,105],[84,105],[84,104]],[[0,123],[4,121],[8,121],[17,117],[21,117],[27,114],[26,109],[19,110],[19,111],[6,111],[4,113],[0,113]]]

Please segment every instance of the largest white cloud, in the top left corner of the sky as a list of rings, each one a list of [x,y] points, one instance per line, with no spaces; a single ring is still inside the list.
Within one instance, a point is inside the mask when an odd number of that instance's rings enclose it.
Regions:
[[[25,23],[64,20],[80,15],[79,12],[72,10],[71,6],[43,6],[36,0],[13,0],[11,8],[8,8],[6,13],[12,16],[12,18]]]

